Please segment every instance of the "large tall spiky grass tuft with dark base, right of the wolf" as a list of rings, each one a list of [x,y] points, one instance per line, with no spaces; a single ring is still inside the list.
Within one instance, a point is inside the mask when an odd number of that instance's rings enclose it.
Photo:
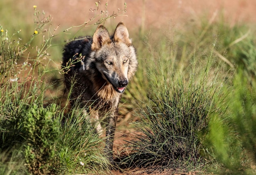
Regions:
[[[203,164],[209,156],[203,144],[209,120],[213,114],[221,115],[216,96],[220,95],[223,70],[218,65],[212,69],[216,65],[212,51],[204,57],[191,53],[194,56],[186,60],[184,47],[184,61],[173,50],[166,50],[166,43],[160,48],[149,43],[148,47],[152,55],[147,58],[144,78],[148,100],[141,101],[136,114],[139,120],[133,123],[139,134],[129,142],[131,154],[124,162],[126,166],[168,168]],[[177,70],[183,61],[188,66]]]

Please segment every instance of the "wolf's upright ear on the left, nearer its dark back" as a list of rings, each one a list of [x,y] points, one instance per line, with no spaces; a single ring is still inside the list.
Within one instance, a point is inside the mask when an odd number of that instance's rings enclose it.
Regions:
[[[100,49],[108,41],[110,41],[110,37],[107,29],[103,25],[99,25],[92,37],[92,50]]]

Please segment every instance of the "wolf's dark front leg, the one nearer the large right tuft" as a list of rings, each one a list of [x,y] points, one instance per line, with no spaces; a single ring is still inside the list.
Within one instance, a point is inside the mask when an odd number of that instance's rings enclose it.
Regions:
[[[108,118],[108,124],[106,127],[106,156],[110,163],[114,164],[113,162],[113,142],[115,136],[115,128],[116,128],[116,120],[117,117],[115,113],[112,113]]]

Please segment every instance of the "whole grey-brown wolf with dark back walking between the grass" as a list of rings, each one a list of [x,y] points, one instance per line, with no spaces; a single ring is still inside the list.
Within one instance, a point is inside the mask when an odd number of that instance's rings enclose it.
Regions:
[[[68,42],[63,49],[64,84],[65,91],[71,91],[71,106],[79,99],[85,114],[94,121],[107,115],[105,151],[110,162],[118,103],[137,64],[135,47],[123,22],[119,22],[113,35],[100,24],[92,37]],[[102,133],[100,123],[96,129]]]

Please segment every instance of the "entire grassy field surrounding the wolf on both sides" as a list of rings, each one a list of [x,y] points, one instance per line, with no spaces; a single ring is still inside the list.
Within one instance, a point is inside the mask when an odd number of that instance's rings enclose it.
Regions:
[[[36,7],[31,23],[29,34],[0,24],[0,175],[108,174],[104,138],[62,97],[65,29]],[[215,16],[145,33],[133,40],[139,67],[120,110],[139,134],[118,165],[255,174],[255,29]]]

